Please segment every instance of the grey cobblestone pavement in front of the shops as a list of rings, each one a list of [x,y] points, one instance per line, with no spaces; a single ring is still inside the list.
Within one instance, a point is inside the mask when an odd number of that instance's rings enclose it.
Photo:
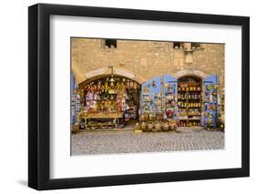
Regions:
[[[72,155],[210,150],[224,148],[224,133],[195,129],[179,132],[89,131],[72,134]]]

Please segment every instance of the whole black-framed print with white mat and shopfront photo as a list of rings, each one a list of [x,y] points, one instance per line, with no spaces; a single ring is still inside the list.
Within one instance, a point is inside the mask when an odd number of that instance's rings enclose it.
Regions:
[[[28,186],[250,175],[250,18],[28,8]]]

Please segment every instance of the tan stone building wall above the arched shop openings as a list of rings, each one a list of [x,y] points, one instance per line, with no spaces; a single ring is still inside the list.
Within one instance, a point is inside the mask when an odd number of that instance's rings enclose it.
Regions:
[[[161,41],[117,40],[117,47],[105,44],[104,39],[71,38],[71,68],[77,84],[86,80],[89,72],[108,66],[132,72],[141,81],[197,69],[218,75],[220,95],[224,94],[224,44],[200,44],[199,49],[190,49],[189,43],[180,48],[174,42]]]

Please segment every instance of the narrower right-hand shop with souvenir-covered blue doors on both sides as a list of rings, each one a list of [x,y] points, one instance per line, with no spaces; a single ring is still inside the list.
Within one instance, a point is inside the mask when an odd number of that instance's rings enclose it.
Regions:
[[[164,75],[142,84],[141,124],[144,130],[217,129],[219,79]]]

